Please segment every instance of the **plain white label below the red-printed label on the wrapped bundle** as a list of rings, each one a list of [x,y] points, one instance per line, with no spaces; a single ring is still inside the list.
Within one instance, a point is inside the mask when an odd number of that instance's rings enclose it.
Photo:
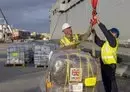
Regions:
[[[70,92],[83,92],[83,83],[69,83]]]

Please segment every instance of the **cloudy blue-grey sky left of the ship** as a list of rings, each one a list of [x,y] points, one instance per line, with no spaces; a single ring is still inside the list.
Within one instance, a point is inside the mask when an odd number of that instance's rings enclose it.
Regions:
[[[2,8],[9,24],[16,28],[49,32],[49,9],[55,1],[0,0],[0,8]]]

